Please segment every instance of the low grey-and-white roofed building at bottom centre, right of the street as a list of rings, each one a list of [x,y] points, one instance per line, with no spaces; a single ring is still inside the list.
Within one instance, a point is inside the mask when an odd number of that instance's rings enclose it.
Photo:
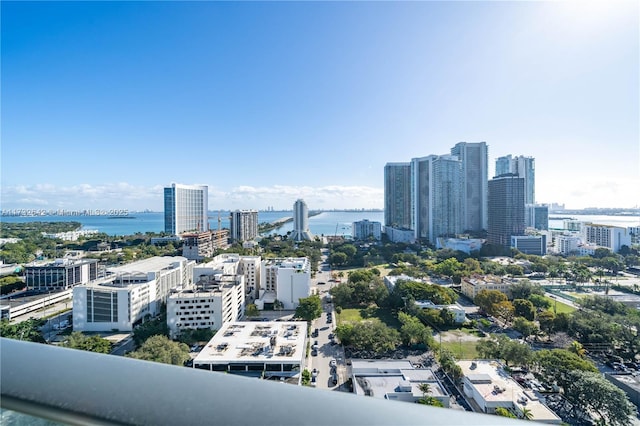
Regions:
[[[450,395],[433,371],[414,368],[408,360],[354,359],[351,372],[356,395],[405,402],[432,396],[449,407]],[[428,395],[420,390],[423,383],[429,385]]]

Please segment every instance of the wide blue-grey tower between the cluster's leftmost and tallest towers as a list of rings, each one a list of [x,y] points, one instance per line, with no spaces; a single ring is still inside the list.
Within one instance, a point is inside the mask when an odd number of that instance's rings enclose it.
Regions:
[[[436,244],[438,237],[462,232],[462,162],[452,155],[411,160],[412,229],[416,239]]]

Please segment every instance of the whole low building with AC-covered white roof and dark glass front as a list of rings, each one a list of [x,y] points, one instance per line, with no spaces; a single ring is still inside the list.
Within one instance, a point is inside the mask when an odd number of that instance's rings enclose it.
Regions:
[[[230,322],[193,360],[193,367],[300,384],[307,323]]]

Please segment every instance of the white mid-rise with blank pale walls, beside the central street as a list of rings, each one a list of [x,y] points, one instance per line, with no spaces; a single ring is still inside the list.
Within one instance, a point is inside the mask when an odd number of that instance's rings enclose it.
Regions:
[[[279,300],[283,309],[294,310],[300,299],[311,294],[311,265],[306,257],[265,259],[260,269],[258,309]]]

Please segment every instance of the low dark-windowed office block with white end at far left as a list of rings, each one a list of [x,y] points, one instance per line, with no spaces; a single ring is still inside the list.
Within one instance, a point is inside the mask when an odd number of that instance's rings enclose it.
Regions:
[[[95,280],[98,277],[98,260],[56,259],[45,265],[27,265],[24,277],[28,290],[66,290]]]

